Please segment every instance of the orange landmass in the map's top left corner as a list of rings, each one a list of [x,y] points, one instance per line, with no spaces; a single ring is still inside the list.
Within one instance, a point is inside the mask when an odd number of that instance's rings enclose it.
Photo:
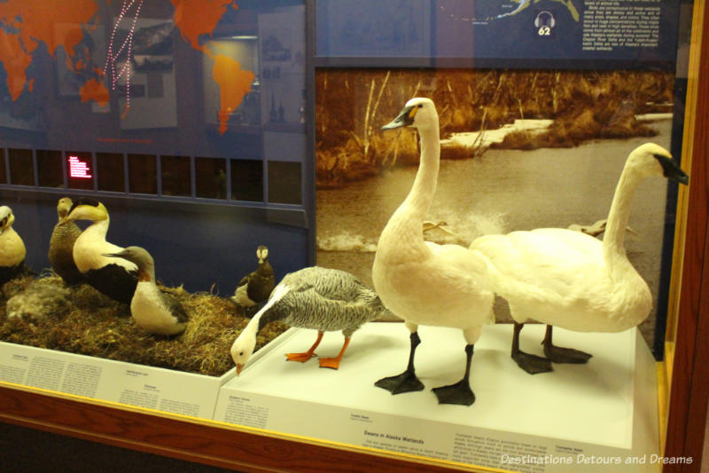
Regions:
[[[59,45],[68,56],[82,40],[81,28],[70,28],[58,35],[58,23],[80,25],[89,22],[98,11],[94,0],[63,0],[51,4],[46,0],[7,0],[0,2],[0,21],[18,33],[0,30],[0,61],[7,72],[7,87],[12,100],[17,100],[27,86],[27,66],[40,43],[54,56]],[[31,84],[29,84],[31,88]]]

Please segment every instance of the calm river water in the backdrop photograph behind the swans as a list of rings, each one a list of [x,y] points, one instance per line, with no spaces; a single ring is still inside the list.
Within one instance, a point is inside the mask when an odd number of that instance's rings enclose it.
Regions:
[[[426,239],[467,246],[486,233],[591,225],[607,217],[627,154],[647,141],[668,148],[671,126],[671,119],[652,122],[658,131],[652,138],[533,151],[490,149],[474,159],[443,160],[429,219],[446,222],[455,236],[434,229]],[[416,167],[396,168],[341,189],[317,191],[317,264],[353,272],[371,287],[378,235],[409,193],[416,172]],[[626,236],[628,257],[650,285],[655,302],[666,187],[662,178],[640,185],[629,224],[635,234]],[[495,305],[495,314],[498,320],[510,320],[504,304]],[[641,327],[648,343],[654,319],[653,309]]]

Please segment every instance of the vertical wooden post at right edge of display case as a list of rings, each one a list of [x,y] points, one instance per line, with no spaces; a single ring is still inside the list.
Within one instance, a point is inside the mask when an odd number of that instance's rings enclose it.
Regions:
[[[674,248],[674,300],[669,307],[664,372],[668,404],[664,454],[692,457],[691,465],[665,471],[698,471],[709,399],[709,14],[694,3],[682,163],[692,184],[679,195]],[[663,386],[660,386],[662,390]]]

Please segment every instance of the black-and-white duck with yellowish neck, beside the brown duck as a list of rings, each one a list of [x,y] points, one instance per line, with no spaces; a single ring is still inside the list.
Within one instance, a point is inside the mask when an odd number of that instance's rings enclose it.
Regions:
[[[105,240],[110,219],[104,204],[91,199],[75,201],[59,225],[74,220],[90,220],[86,230],[74,242],[74,264],[93,288],[124,304],[130,304],[138,283],[135,263],[121,257],[104,256],[123,248]]]

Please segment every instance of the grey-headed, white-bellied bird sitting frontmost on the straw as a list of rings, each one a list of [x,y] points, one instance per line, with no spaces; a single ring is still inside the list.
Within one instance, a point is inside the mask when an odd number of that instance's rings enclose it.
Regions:
[[[138,268],[138,284],[130,301],[130,315],[139,327],[157,335],[181,334],[187,327],[187,313],[175,297],[155,284],[155,262],[145,248],[128,247],[104,256],[123,258]]]

